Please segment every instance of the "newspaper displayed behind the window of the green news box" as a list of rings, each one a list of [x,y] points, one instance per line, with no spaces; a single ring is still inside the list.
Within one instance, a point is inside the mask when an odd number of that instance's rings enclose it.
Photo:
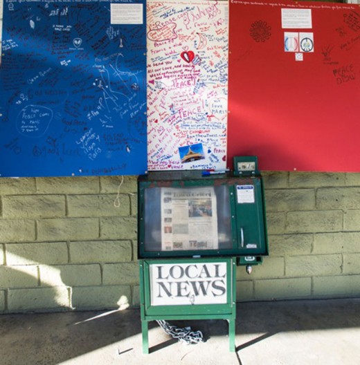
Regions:
[[[161,189],[161,250],[217,250],[213,187]]]

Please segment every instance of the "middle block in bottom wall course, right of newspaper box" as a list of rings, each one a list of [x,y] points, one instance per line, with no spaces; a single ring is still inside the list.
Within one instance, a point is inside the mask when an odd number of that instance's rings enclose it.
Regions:
[[[306,298],[311,294],[311,278],[255,281],[255,298],[260,300]]]

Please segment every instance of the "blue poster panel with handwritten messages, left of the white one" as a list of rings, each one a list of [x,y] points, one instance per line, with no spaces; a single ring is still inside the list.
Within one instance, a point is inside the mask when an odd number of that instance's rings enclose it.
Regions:
[[[143,174],[145,0],[3,3],[0,176]]]

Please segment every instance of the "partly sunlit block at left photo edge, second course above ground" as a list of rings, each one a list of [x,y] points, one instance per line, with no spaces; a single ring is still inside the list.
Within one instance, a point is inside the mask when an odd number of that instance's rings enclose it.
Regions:
[[[36,265],[0,266],[0,288],[35,288],[38,280]]]

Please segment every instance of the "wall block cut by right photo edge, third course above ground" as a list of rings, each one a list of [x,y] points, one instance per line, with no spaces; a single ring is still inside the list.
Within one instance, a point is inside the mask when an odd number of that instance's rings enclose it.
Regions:
[[[360,232],[314,234],[314,254],[360,252]]]

